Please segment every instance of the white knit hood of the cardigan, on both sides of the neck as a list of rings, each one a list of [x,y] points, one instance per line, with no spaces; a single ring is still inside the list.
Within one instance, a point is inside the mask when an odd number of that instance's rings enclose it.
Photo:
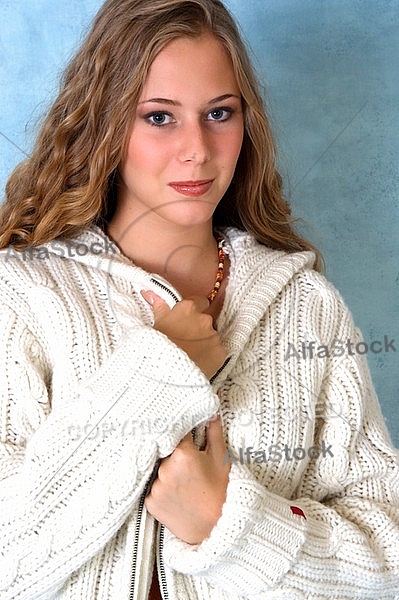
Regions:
[[[229,256],[230,272],[218,330],[224,331],[231,345],[230,352],[234,353],[238,346],[242,347],[270,304],[292,279],[300,271],[312,269],[315,256],[313,252],[289,254],[273,250],[259,244],[251,234],[232,227],[221,228],[220,233]],[[103,271],[112,278],[119,278],[138,293],[152,289],[170,307],[182,299],[178,290],[162,276],[134,265],[95,225],[74,238],[56,239],[25,252],[34,252],[34,257],[43,262],[46,262],[45,259],[72,260],[89,269]],[[150,310],[144,300],[143,304]]]

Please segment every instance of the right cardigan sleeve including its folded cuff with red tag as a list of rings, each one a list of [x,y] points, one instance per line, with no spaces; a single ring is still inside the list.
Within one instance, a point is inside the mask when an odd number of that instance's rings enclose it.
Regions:
[[[348,311],[339,329],[337,339],[361,340]],[[319,399],[340,399],[343,407],[341,418],[325,412],[315,430],[315,443],[331,444],[334,457],[311,461],[290,499],[263,487],[246,464],[232,464],[209,538],[190,546],[166,532],[169,567],[254,600],[273,592],[317,600],[399,597],[399,456],[365,358],[331,361]]]

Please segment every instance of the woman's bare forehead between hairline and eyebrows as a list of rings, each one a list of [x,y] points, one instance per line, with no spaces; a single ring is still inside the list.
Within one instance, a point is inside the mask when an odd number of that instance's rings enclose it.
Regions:
[[[169,42],[151,65],[142,97],[155,94],[169,98],[172,93],[200,91],[201,96],[205,93],[209,97],[239,93],[231,58],[209,33]]]

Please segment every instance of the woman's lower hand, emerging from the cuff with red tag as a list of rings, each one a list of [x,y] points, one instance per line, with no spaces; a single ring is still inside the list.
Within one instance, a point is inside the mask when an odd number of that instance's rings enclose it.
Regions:
[[[197,450],[188,433],[162,459],[145,500],[148,512],[188,544],[201,543],[221,516],[231,466],[223,464],[225,453],[218,417],[207,427],[204,450]]]

